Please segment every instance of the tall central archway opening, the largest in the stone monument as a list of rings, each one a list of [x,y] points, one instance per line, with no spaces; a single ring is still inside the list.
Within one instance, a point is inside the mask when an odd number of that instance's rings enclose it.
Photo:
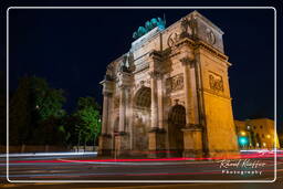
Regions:
[[[133,144],[134,150],[137,153],[148,149],[147,134],[150,128],[150,88],[143,86],[134,97]]]

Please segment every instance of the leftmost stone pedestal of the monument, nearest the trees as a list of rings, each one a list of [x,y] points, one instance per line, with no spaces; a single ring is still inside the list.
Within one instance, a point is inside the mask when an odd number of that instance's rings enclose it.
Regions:
[[[111,156],[112,154],[112,136],[104,134],[99,136],[98,156]]]

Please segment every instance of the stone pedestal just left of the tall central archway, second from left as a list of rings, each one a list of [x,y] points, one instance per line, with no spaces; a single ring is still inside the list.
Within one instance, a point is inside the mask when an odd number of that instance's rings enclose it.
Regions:
[[[129,154],[129,135],[119,133],[115,136],[115,151],[114,157],[128,156]]]

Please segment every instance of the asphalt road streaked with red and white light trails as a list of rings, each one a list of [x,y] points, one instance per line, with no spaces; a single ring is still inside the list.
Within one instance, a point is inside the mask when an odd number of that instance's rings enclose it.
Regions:
[[[9,158],[11,182],[7,181],[6,157],[0,159],[0,177],[3,188],[283,188],[283,157],[279,156],[276,181],[270,154],[245,154],[230,161],[98,159],[94,154],[14,155]],[[224,182],[229,180],[245,183]],[[253,183],[248,183],[251,180]]]

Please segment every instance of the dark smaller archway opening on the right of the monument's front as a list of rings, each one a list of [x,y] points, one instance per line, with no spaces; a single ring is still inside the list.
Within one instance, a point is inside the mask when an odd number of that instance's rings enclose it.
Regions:
[[[175,105],[168,114],[168,136],[171,156],[182,156],[184,133],[186,126],[186,108],[182,105]]]

